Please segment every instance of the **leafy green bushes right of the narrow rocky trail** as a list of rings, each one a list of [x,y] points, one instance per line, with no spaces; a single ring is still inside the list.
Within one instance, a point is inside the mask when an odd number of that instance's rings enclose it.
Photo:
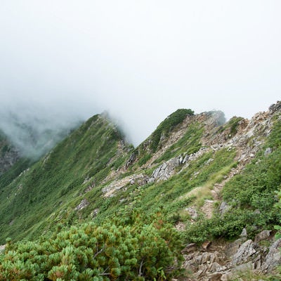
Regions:
[[[281,189],[281,122],[276,122],[265,149],[247,165],[241,174],[233,177],[223,188],[223,200],[231,209],[224,216],[216,214],[210,220],[201,220],[188,227],[186,236],[193,242],[240,235],[247,228],[249,237],[264,228],[272,229],[280,222],[280,211],[274,208],[276,190]]]

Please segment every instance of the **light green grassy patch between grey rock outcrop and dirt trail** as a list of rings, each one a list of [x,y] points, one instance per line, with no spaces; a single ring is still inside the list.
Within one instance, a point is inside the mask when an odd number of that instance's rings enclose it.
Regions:
[[[162,214],[174,220],[174,214],[195,201],[196,196],[188,195],[191,190],[199,186],[207,186],[210,190],[212,184],[219,183],[223,179],[225,166],[235,164],[235,154],[234,150],[205,153],[202,157],[190,163],[188,169],[183,169],[167,181],[143,185],[141,189],[135,188],[133,195],[138,197],[139,200],[134,206],[147,214],[153,213],[155,208],[161,208]],[[197,174],[197,171],[200,171],[200,173]],[[131,192],[131,190],[127,192]],[[128,199],[129,193],[124,197]]]

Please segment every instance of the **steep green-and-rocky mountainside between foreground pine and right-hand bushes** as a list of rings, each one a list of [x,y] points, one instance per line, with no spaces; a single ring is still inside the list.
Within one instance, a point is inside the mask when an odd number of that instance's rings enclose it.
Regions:
[[[47,230],[56,222],[103,220],[124,206],[161,207],[174,220],[188,216],[188,207],[210,217],[226,178],[254,158],[275,116],[271,110],[222,124],[222,112],[177,110],[132,150],[96,115],[2,188],[2,239],[33,233],[38,223]]]

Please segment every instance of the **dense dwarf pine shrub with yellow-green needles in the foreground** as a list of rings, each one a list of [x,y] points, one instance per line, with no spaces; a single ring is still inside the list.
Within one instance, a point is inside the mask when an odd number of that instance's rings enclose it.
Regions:
[[[166,280],[181,266],[181,237],[158,212],[86,223],[34,242],[8,242],[0,280]],[[171,269],[171,265],[174,268]]]

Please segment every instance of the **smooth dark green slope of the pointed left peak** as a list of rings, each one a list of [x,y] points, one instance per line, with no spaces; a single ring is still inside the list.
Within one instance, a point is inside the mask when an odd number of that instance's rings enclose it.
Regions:
[[[40,226],[44,228],[44,220],[60,205],[77,204],[83,183],[88,178],[92,185],[100,183],[112,166],[122,163],[124,148],[119,131],[104,117],[89,119],[46,157],[1,188],[2,242],[7,236],[26,237]]]

